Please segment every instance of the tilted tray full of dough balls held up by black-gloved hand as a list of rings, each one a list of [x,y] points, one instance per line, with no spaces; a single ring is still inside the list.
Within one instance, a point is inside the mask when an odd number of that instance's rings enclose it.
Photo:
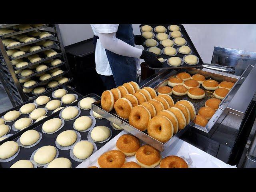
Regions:
[[[152,69],[196,68],[203,65],[183,25],[140,25],[140,32],[144,38],[144,49],[161,57],[162,66]]]

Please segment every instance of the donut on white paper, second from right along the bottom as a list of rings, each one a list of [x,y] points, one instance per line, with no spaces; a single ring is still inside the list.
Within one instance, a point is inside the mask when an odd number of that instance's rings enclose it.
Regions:
[[[144,168],[154,168],[160,164],[161,155],[150,145],[141,146],[135,155],[137,163]]]

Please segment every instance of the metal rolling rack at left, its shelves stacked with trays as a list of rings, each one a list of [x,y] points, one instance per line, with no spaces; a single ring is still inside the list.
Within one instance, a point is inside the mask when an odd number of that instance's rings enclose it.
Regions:
[[[0,85],[2,88],[4,88],[8,98],[10,99],[10,102],[12,103],[12,106],[18,106],[22,104],[23,102],[26,102],[28,100],[34,99],[37,95],[32,94],[32,92],[23,92],[24,85],[22,82],[26,81],[28,78],[30,80],[35,80],[36,84],[30,87],[26,87],[27,89],[34,89],[36,87],[43,86],[46,88],[45,91],[48,91],[52,88],[48,87],[48,82],[52,80],[58,81],[61,77],[67,77],[68,81],[63,84],[58,84],[58,86],[69,84],[73,79],[70,76],[70,68],[68,65],[68,60],[66,56],[66,52],[64,49],[64,45],[62,42],[61,34],[60,34],[60,28],[58,24],[39,24],[39,25],[33,25],[31,24],[32,28],[26,29],[26,30],[19,30],[18,26],[21,24],[0,24],[0,30],[12,30],[11,33],[8,34],[2,34],[0,35]],[[30,36],[33,31],[40,31],[40,32],[48,32],[51,35],[40,38],[39,36],[36,36],[34,40],[28,41],[28,42],[21,42],[20,44],[14,45],[14,46],[4,46],[3,40],[6,39],[13,39],[15,40],[16,36],[18,35],[27,35]],[[44,40],[52,40],[54,42],[53,45],[44,47],[40,45],[40,42]],[[18,40],[15,40],[18,41]],[[17,57],[8,56],[7,51],[8,50],[19,50],[22,46],[33,46],[33,45],[39,45],[41,47],[40,50],[36,50],[33,52],[25,52],[25,54]],[[57,52],[56,55],[47,57],[43,54],[46,50],[54,50]],[[38,54],[42,60],[39,60],[37,62],[30,62],[28,60],[28,56]],[[15,65],[12,65],[13,60],[17,59],[23,59],[23,61],[28,62],[28,65],[17,68]],[[52,59],[60,59],[62,62],[58,65],[52,66],[50,65],[50,61]],[[48,63],[47,63],[48,62]],[[45,64],[48,68],[45,70],[42,70],[40,72],[37,72],[35,67],[38,64]],[[63,71],[62,74],[59,74],[57,76],[52,76],[51,78],[40,81],[39,77],[42,74],[48,73],[50,74],[51,70],[54,70],[56,68],[60,68],[60,70]],[[20,75],[20,72],[25,69],[31,69],[33,71],[33,74],[30,76],[22,77]],[[21,82],[20,82],[21,81]],[[56,86],[56,87],[58,87]],[[54,88],[56,88],[54,87]]]

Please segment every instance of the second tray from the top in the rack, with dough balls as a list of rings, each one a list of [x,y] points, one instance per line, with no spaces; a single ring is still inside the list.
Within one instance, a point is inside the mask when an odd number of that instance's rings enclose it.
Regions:
[[[2,40],[2,42],[7,50],[11,50],[41,41],[44,42],[44,40],[54,38],[55,36],[56,34],[53,32],[35,30],[32,32],[6,38]]]

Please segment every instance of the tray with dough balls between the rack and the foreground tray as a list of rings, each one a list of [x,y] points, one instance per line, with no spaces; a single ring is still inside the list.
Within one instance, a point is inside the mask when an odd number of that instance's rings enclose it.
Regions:
[[[64,98],[63,100],[58,94],[56,94],[57,97],[54,96],[53,92],[57,92],[56,90],[66,93],[67,96],[65,97],[67,99],[65,100]],[[31,126],[80,98],[82,98],[81,94],[67,86],[60,86],[45,92],[44,95],[37,96],[34,100],[27,101],[6,112],[2,112],[0,114],[0,124],[2,126],[0,128],[0,138],[16,134],[23,128]]]

